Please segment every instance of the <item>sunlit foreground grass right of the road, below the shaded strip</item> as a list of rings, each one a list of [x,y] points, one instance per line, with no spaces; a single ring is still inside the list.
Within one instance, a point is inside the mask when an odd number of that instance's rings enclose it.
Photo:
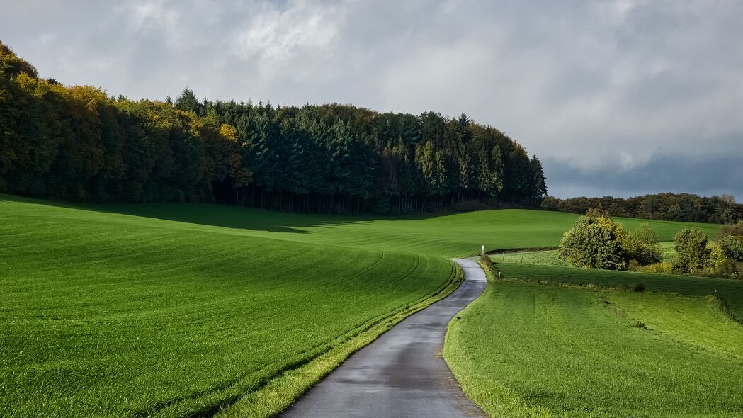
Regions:
[[[743,327],[704,298],[499,280],[457,318],[444,357],[492,417],[743,416]]]

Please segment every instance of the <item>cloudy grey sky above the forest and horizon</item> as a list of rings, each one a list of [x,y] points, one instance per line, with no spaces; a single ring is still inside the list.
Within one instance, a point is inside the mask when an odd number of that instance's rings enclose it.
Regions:
[[[550,194],[743,202],[743,1],[13,1],[42,77],[496,126]]]

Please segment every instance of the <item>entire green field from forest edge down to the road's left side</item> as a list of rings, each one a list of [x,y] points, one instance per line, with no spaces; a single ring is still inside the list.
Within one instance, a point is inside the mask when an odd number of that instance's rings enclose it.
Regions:
[[[474,254],[481,243],[554,247],[575,219],[542,210],[338,217],[0,195],[0,416],[186,417],[227,404],[226,417],[274,414],[449,292],[455,269],[444,257]],[[652,225],[661,239],[689,226]]]

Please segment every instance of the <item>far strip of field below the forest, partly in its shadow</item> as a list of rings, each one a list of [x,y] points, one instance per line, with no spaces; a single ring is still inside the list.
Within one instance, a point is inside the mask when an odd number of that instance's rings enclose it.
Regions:
[[[0,199],[3,198],[39,202],[0,195]],[[562,234],[578,219],[574,213],[522,209],[482,210],[444,216],[374,217],[308,215],[182,203],[66,206],[186,222],[195,231],[213,231],[211,227],[218,226],[230,229],[234,234],[252,237],[444,257],[479,254],[480,245],[485,245],[487,250],[556,248]],[[643,222],[650,222],[661,241],[672,240],[683,228],[697,227],[710,237],[719,228],[719,225],[688,222],[629,218],[617,218],[617,221],[630,230],[639,228]]]

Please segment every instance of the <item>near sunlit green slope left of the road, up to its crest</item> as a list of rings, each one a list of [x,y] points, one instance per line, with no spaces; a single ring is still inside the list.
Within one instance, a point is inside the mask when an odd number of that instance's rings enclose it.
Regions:
[[[208,414],[449,289],[455,274],[441,257],[7,197],[0,234],[7,418]],[[261,408],[251,413],[276,405]]]

